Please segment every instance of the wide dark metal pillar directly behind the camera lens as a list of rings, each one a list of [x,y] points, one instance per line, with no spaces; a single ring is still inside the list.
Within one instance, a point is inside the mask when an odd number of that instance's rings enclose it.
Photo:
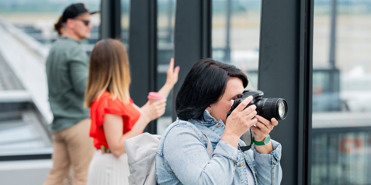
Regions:
[[[281,184],[311,184],[313,0],[263,0],[260,25],[258,88],[289,107],[270,134],[282,144]]]

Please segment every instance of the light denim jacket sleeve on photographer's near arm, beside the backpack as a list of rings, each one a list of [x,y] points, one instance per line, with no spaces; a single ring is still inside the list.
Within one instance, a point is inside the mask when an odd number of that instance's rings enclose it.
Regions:
[[[162,156],[178,180],[184,185],[230,185],[233,181],[235,162],[242,153],[220,140],[213,157],[207,155],[204,137],[197,128],[179,124],[163,135]]]

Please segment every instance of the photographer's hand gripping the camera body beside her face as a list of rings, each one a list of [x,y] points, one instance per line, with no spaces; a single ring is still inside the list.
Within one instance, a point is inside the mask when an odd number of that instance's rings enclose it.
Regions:
[[[224,131],[226,134],[240,138],[247,129],[257,123],[257,118],[255,118],[257,114],[255,111],[256,106],[250,105],[244,109],[252,99],[252,96],[247,97],[229,115],[226,120],[226,129]]]

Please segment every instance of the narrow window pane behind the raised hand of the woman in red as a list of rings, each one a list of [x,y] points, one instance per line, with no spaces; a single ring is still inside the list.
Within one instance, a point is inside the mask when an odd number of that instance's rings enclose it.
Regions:
[[[176,0],[157,0],[157,91],[165,84],[170,58],[174,56]],[[157,134],[172,123],[171,93],[167,97],[165,114],[157,119]]]

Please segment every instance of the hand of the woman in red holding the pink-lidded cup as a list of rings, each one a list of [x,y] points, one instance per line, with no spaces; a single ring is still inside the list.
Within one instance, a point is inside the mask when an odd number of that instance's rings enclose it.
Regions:
[[[157,100],[150,104],[148,101],[143,105],[142,114],[148,118],[148,122],[155,120],[165,113],[166,99]]]

